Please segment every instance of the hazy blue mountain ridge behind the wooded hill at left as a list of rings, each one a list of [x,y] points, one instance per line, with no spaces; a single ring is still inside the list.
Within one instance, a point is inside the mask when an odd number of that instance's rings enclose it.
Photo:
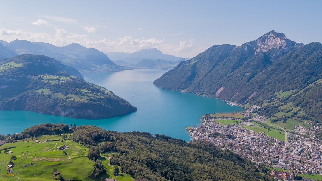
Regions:
[[[26,40],[14,40],[10,43],[1,41],[0,43],[15,54],[31,53],[49,56],[79,71],[120,71],[128,69],[116,65],[103,52],[94,48],[86,48],[77,43],[62,47],[42,42],[31,43]]]

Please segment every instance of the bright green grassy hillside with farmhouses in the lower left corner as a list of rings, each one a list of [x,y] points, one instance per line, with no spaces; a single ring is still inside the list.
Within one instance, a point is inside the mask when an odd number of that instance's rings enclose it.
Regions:
[[[67,134],[69,136],[69,134]],[[55,140],[61,139],[60,135],[43,135],[38,137],[38,140],[44,141],[45,139]],[[0,153],[0,169],[1,173],[4,173],[4,169],[9,165],[9,160],[12,155],[16,157],[13,160],[15,175],[19,176],[20,180],[26,181],[49,181],[53,179],[53,169],[57,169],[66,179],[69,180],[101,180],[101,177],[91,178],[89,177],[93,173],[94,162],[90,161],[86,156],[88,148],[85,148],[79,143],[75,143],[72,140],[65,141],[52,141],[44,143],[35,143],[28,139],[27,141],[18,141],[16,143],[6,143],[0,146],[2,148],[11,148],[13,153],[5,154],[3,151]],[[68,149],[65,149],[67,155],[62,150],[56,150],[57,147],[66,145]],[[107,175],[109,178],[114,177],[113,167],[108,165],[109,160],[101,157],[104,160],[103,165],[109,171]],[[33,164],[33,165],[31,165]],[[110,170],[112,169],[112,172]],[[17,177],[6,177],[5,174],[0,174],[0,180],[16,181]],[[104,179],[105,179],[104,178]],[[120,181],[132,181],[133,178],[128,174],[118,176]]]

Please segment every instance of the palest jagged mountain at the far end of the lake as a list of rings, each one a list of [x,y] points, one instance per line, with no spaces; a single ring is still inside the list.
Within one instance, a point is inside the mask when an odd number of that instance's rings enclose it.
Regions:
[[[104,52],[111,60],[123,60],[124,62],[132,62],[134,64],[140,62],[143,59],[151,60],[167,60],[176,61],[182,59],[182,57],[175,57],[173,55],[163,54],[156,48],[143,49],[134,53],[117,53],[117,52]]]

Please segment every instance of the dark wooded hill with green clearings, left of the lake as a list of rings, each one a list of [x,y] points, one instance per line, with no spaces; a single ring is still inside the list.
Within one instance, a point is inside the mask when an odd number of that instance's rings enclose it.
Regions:
[[[0,110],[106,119],[137,108],[54,58],[22,54],[0,61]]]

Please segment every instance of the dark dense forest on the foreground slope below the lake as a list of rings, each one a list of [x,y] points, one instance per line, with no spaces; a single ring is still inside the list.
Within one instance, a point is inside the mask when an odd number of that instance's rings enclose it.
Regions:
[[[97,160],[95,157],[98,157],[103,147],[110,146],[110,151],[120,153],[112,154],[111,164],[120,166],[122,172],[135,179],[273,180],[267,172],[260,174],[260,170],[251,165],[250,161],[205,141],[187,143],[165,135],[152,136],[147,132],[135,131],[119,133],[95,126],[76,127],[71,139],[90,148],[88,156],[93,161]]]

